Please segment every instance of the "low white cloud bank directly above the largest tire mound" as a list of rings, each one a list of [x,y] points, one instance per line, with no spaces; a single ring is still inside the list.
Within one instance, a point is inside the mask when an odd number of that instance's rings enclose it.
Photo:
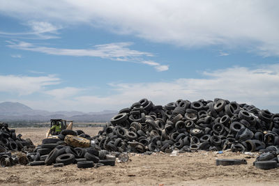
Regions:
[[[195,101],[224,98],[239,103],[254,104],[259,109],[269,109],[279,113],[279,65],[264,65],[258,68],[234,67],[202,72],[204,77],[197,79],[169,79],[161,82],[111,83],[105,91],[110,95],[94,95],[80,92],[78,88],[50,90],[52,100],[17,100],[36,109],[102,111],[130,107],[142,98],[154,104],[167,104],[178,99]],[[56,98],[69,90],[70,98]]]

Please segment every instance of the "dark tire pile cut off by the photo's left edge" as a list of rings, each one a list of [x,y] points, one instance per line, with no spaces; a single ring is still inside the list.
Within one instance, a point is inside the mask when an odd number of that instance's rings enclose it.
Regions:
[[[35,148],[30,139],[22,139],[22,134],[16,135],[14,129],[8,128],[8,123],[0,123],[0,153],[27,148]]]

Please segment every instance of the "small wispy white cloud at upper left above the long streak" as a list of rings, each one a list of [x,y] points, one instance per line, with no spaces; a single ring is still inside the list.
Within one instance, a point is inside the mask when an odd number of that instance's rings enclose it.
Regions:
[[[30,28],[30,31],[27,32],[5,32],[0,31],[0,36],[9,36],[11,38],[22,38],[27,36],[33,39],[52,39],[59,38],[56,36],[59,29],[62,29],[62,26],[54,26],[49,22],[27,22],[27,25]]]

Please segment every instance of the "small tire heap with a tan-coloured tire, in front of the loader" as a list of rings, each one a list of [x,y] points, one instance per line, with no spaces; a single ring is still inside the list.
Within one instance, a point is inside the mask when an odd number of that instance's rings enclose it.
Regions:
[[[34,153],[29,153],[29,164],[66,166],[77,164],[78,168],[90,168],[115,165],[116,156],[107,150],[96,148],[91,144],[91,137],[82,130],[62,130],[59,138],[43,139]]]

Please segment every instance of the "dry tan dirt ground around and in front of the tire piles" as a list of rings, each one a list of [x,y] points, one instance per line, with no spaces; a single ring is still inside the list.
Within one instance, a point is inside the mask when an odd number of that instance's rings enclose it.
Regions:
[[[46,128],[16,128],[34,144],[44,139]],[[100,128],[81,128],[97,134]],[[216,166],[217,158],[245,158],[248,164]],[[255,157],[241,153],[200,151],[178,156],[130,154],[130,161],[98,169],[78,169],[75,164],[0,167],[0,185],[278,185],[279,169],[252,166]]]

